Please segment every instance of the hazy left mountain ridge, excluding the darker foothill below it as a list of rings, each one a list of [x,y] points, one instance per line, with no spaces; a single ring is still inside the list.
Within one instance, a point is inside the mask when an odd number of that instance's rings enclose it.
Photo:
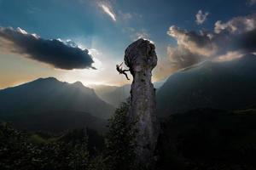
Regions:
[[[80,111],[108,119],[112,105],[102,101],[93,89],[81,82],[60,82],[54,77],[39,78],[14,88],[0,90],[0,115],[47,111]]]

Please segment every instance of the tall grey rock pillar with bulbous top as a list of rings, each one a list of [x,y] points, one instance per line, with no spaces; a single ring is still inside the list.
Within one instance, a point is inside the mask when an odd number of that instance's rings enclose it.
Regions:
[[[137,121],[137,161],[149,168],[159,134],[155,89],[151,82],[151,71],[157,65],[154,44],[143,39],[131,43],[125,50],[125,65],[133,77],[129,116]]]

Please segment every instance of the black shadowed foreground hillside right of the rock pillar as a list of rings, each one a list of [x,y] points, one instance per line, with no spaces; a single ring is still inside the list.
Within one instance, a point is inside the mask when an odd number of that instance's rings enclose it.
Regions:
[[[256,169],[256,110],[197,109],[162,123],[161,170]]]

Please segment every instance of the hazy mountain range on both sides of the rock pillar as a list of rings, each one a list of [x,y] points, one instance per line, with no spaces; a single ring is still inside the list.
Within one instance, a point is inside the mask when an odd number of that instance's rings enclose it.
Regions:
[[[201,65],[177,71],[157,88],[158,116],[197,108],[241,110],[256,107],[256,57]],[[92,89],[94,88],[94,89]],[[14,88],[0,90],[0,119],[17,127],[55,131],[91,127],[104,130],[115,108],[130,95],[130,85],[97,85],[39,78]]]

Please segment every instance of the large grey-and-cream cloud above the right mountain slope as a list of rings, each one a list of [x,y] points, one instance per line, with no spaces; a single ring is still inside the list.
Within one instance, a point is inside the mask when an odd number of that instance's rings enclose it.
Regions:
[[[174,68],[182,69],[207,59],[236,59],[256,51],[256,14],[225,23],[218,20],[214,32],[186,31],[171,26],[167,34],[177,40],[176,47],[167,49]]]

